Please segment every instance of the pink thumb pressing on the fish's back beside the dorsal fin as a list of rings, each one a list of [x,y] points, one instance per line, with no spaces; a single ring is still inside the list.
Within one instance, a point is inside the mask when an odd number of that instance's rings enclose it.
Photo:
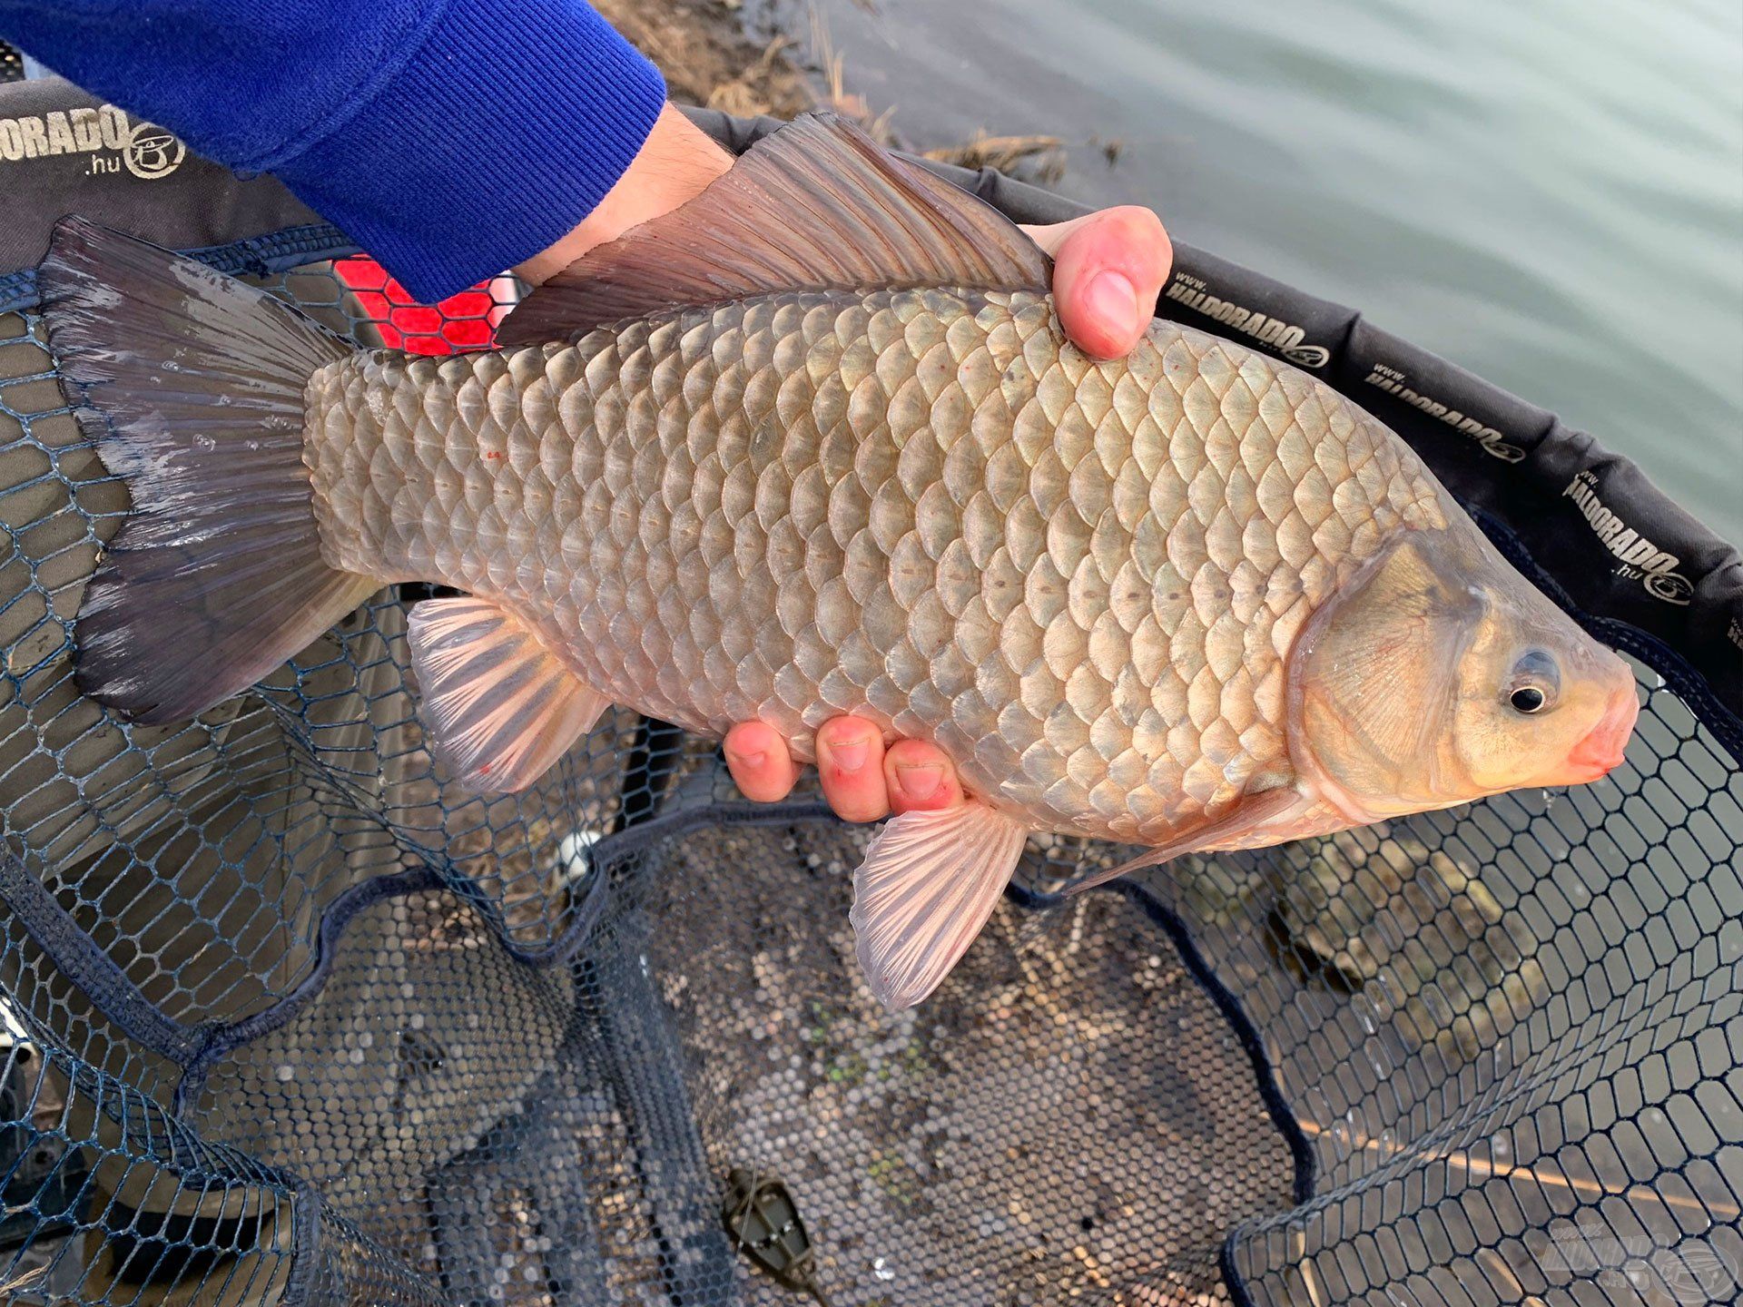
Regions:
[[[1102,209],[1068,223],[1030,228],[1053,254],[1053,300],[1065,335],[1098,359],[1138,343],[1156,314],[1175,251],[1149,209]]]

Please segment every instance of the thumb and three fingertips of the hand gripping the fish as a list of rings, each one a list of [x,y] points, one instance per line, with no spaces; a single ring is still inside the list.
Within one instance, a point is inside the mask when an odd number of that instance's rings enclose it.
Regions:
[[[1124,206],[1068,223],[1025,227],[1053,256],[1053,298],[1065,335],[1098,359],[1138,343],[1168,281],[1173,247],[1149,209]],[[741,721],[725,741],[727,770],[746,798],[774,803],[798,779],[786,741],[762,721]],[[896,741],[865,718],[838,716],[817,730],[823,796],[845,821],[945,809],[962,802],[962,782],[941,749]]]

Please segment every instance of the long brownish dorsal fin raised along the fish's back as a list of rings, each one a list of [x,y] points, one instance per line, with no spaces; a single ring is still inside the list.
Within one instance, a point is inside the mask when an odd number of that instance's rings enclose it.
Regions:
[[[772,291],[1039,289],[1048,256],[1011,220],[885,153],[835,113],[753,145],[688,204],[575,260],[509,314],[498,345]]]

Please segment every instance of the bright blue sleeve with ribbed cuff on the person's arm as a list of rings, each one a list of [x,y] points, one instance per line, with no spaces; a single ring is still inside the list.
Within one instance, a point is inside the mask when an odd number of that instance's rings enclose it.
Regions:
[[[666,99],[580,0],[0,0],[0,35],[279,176],[427,301],[586,218]]]

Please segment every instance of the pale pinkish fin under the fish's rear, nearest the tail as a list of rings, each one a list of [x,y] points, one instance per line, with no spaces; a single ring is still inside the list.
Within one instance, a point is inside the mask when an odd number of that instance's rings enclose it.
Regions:
[[[610,706],[490,599],[425,599],[408,636],[431,751],[464,789],[525,789]]]

